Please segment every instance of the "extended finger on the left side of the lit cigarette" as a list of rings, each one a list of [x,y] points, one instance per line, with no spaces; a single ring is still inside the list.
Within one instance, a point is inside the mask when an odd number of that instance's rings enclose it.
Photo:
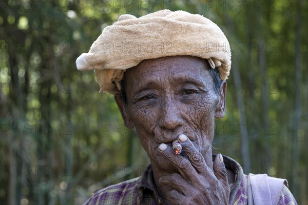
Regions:
[[[161,144],[159,146],[159,151],[169,159],[178,168],[179,172],[185,179],[189,179],[189,176],[196,176],[197,172],[191,163],[185,157],[175,154],[171,147],[166,144]]]

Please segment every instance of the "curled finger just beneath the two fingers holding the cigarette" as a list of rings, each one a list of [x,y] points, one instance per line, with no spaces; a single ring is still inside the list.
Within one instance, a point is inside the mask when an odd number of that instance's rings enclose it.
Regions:
[[[178,190],[180,193],[188,196],[189,192],[189,187],[191,187],[190,183],[184,179],[181,175],[179,174],[169,174],[162,176],[159,179],[159,183],[162,186],[169,186],[172,189]]]

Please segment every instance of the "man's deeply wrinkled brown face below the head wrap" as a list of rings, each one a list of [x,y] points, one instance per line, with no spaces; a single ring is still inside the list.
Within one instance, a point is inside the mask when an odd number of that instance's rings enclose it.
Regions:
[[[171,146],[180,134],[203,156],[210,149],[214,116],[224,99],[215,92],[208,69],[204,59],[173,56],[144,60],[126,70],[127,105],[122,115],[127,127],[136,127],[152,166],[177,172],[158,147],[161,143]]]

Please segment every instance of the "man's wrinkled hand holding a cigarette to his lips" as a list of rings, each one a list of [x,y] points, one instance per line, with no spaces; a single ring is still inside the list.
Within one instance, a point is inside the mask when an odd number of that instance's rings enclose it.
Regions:
[[[180,174],[160,178],[161,186],[169,186],[167,200],[175,204],[228,204],[230,188],[221,154],[214,159],[214,172],[206,165],[202,154],[185,135],[180,135],[182,149],[189,160],[176,155],[165,144],[159,150],[178,168]]]

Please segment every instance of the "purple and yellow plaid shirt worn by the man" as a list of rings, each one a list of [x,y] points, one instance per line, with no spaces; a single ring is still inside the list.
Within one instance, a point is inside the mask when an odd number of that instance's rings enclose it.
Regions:
[[[213,156],[214,157],[214,156]],[[227,169],[235,173],[235,182],[230,190],[229,204],[247,204],[248,176],[244,175],[237,161],[223,156]],[[109,186],[93,194],[85,204],[163,204],[159,198],[151,165],[141,177]],[[280,194],[278,205],[297,204],[286,186]]]

